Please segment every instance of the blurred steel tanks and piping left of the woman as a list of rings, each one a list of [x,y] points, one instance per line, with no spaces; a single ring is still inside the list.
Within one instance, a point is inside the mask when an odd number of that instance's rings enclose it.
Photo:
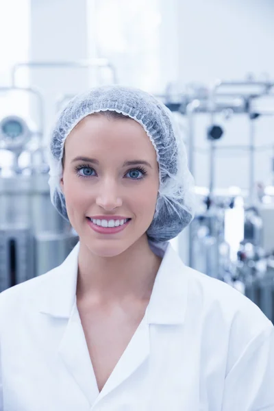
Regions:
[[[42,103],[32,89],[1,90],[32,93]],[[19,116],[0,119],[1,158],[12,156],[8,165],[0,164],[0,292],[58,266],[77,242],[51,205],[41,136],[42,129],[33,130]]]

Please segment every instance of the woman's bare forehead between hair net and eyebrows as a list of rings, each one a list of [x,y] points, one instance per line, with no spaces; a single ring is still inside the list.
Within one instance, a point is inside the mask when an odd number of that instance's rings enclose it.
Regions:
[[[92,114],[80,121],[65,142],[66,155],[103,151],[112,155],[114,151],[130,155],[155,157],[155,149],[145,129],[133,119],[108,119],[101,114]]]

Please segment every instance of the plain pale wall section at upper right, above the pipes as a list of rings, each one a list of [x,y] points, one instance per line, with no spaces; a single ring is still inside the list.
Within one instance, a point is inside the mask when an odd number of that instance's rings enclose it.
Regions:
[[[179,0],[177,15],[184,82],[273,73],[271,0]]]

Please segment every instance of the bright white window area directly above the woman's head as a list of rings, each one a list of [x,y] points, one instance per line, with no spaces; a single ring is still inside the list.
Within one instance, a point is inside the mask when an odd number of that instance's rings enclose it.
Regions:
[[[87,1],[88,21],[95,27],[90,38],[90,56],[110,59],[120,84],[157,92],[162,85],[160,0]],[[92,47],[94,40],[97,55]]]

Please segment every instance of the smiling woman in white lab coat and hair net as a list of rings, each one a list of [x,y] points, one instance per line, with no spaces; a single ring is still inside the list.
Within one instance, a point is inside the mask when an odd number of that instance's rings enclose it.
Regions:
[[[0,410],[274,410],[273,325],[168,242],[194,208],[169,110],[120,86],[75,97],[50,174],[79,242],[0,296]]]

